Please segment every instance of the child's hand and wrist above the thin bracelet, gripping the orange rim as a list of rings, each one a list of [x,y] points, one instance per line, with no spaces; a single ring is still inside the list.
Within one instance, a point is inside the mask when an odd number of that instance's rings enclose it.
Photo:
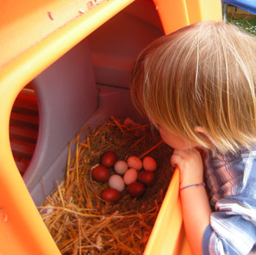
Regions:
[[[171,163],[172,166],[178,166],[180,169],[181,188],[202,182],[202,158],[197,149],[175,149],[172,154]]]

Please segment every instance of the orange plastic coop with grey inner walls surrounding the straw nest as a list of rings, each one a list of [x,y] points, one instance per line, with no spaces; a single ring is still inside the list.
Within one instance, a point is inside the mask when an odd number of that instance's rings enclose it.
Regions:
[[[163,34],[197,21],[221,20],[221,1],[0,4],[0,254],[60,254],[36,205],[61,177],[68,141],[83,125],[96,125],[109,114],[138,120],[128,92],[128,71],[136,55]],[[33,157],[21,176],[12,155],[10,118],[27,84],[34,86],[40,125]],[[191,254],[178,174],[176,170],[145,255]]]

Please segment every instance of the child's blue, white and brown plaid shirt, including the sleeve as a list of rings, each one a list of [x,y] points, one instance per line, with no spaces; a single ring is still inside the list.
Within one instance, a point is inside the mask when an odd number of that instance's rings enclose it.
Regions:
[[[202,254],[256,254],[256,149],[215,158],[208,152],[205,178],[213,212]]]

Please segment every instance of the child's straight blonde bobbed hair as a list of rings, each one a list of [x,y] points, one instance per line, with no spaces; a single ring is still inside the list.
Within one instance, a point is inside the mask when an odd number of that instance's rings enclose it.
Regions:
[[[195,23],[139,55],[132,100],[154,125],[200,147],[221,153],[250,148],[256,138],[255,64],[255,37],[227,23]]]

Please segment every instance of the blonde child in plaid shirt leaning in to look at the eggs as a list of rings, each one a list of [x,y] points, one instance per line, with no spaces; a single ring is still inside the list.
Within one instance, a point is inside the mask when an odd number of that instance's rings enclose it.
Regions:
[[[175,149],[194,255],[256,254],[255,70],[255,37],[216,21],[158,38],[134,65],[134,105]]]

